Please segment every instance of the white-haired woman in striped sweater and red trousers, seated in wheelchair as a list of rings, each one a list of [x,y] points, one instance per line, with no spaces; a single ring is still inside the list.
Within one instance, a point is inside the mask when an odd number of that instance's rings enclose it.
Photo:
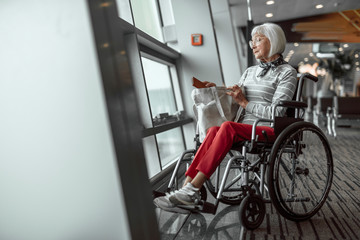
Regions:
[[[193,162],[186,172],[184,186],[164,197],[154,199],[154,204],[164,210],[182,212],[177,205],[194,205],[199,200],[199,189],[210,178],[232,145],[251,139],[252,124],[258,118],[271,118],[272,109],[279,101],[291,100],[296,89],[296,70],[284,61],[286,38],[276,24],[265,23],[256,26],[249,42],[259,65],[249,67],[240,78],[238,85],[229,87],[228,95],[245,110],[240,123],[225,122],[212,127],[198,149]],[[206,82],[207,87],[215,86]],[[244,86],[246,96],[239,86]],[[285,113],[277,108],[277,115]],[[259,125],[256,134],[264,140],[266,131],[269,141],[275,140],[274,129]]]

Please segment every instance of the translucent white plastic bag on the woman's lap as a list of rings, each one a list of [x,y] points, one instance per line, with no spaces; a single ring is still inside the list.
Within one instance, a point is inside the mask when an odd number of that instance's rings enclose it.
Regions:
[[[225,121],[239,121],[243,108],[226,91],[226,87],[210,87],[191,92],[200,142],[210,127],[220,126]]]

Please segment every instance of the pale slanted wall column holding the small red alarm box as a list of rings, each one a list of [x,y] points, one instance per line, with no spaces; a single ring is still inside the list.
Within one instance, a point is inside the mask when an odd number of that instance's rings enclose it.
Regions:
[[[215,82],[217,85],[224,84],[210,5],[207,0],[172,0],[172,7],[178,39],[175,48],[182,55],[179,75],[184,94],[184,107],[189,114],[192,114],[193,76],[202,81]],[[191,34],[193,33],[203,34],[204,44],[202,46],[191,45]],[[194,138],[193,129],[191,126],[185,128],[187,147],[193,147],[191,145]],[[190,134],[188,134],[189,132]]]

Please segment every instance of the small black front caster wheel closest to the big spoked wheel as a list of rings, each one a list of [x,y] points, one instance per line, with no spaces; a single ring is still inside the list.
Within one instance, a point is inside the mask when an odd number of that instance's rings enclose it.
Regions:
[[[248,230],[258,228],[264,220],[265,213],[265,203],[261,196],[256,194],[246,196],[239,208],[241,226]]]

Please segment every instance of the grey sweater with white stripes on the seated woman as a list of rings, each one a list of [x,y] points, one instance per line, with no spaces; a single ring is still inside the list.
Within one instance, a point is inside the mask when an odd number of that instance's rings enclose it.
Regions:
[[[253,124],[258,118],[271,119],[274,105],[281,100],[292,100],[295,93],[297,73],[289,64],[269,69],[265,76],[258,77],[261,70],[259,66],[249,67],[240,78],[238,85],[245,87],[245,97],[249,101],[245,115],[240,120],[242,123]],[[277,116],[284,113],[284,108],[276,109]]]

